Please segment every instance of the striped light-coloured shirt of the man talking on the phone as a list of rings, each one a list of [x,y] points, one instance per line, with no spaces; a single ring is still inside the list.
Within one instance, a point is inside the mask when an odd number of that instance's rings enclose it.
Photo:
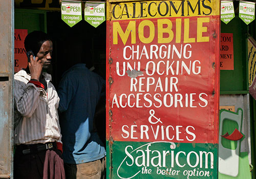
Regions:
[[[51,75],[42,73],[47,89],[29,83],[31,76],[21,70],[14,75],[15,144],[60,142],[58,118],[59,97],[50,82]]]

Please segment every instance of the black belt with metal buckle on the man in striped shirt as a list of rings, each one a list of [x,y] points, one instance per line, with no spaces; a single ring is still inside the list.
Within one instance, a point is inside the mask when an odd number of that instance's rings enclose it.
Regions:
[[[56,142],[48,142],[45,144],[20,144],[16,149],[20,150],[23,154],[35,153],[42,150],[56,148]]]

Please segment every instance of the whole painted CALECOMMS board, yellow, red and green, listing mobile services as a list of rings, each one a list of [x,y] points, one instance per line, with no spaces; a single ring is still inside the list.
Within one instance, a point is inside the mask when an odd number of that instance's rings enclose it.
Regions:
[[[107,5],[109,178],[217,177],[219,7]]]

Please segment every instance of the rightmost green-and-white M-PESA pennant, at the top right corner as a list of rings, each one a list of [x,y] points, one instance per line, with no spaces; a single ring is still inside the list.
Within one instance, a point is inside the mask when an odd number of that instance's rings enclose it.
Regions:
[[[255,18],[255,3],[240,1],[239,3],[239,17],[246,25],[250,24]]]

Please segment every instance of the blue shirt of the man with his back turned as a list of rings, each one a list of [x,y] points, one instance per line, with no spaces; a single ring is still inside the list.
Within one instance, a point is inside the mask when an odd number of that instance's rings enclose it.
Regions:
[[[60,129],[65,163],[80,164],[105,156],[105,148],[93,125],[104,85],[105,81],[88,70],[86,64],[76,64],[62,75],[58,110],[63,112]]]

